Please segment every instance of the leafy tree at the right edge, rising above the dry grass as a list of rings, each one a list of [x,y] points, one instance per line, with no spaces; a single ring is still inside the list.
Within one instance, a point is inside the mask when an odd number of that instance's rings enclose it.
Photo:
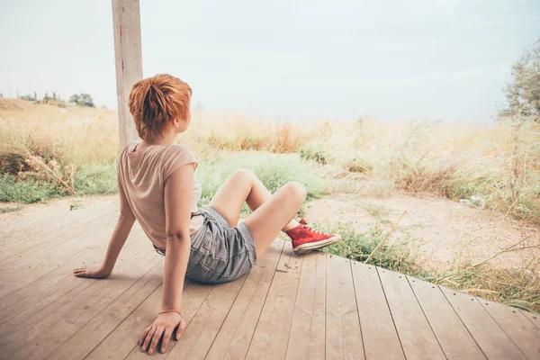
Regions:
[[[499,113],[500,117],[540,121],[540,38],[512,66],[512,77],[505,88],[509,106]]]

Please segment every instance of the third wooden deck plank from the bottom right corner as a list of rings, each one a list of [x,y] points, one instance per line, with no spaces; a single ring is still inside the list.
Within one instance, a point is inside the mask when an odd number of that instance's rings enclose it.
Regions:
[[[464,324],[437,285],[407,276],[447,359],[485,359]]]

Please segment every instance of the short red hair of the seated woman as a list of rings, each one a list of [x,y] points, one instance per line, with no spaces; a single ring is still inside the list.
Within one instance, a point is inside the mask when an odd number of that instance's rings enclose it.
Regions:
[[[175,76],[159,74],[131,87],[128,105],[140,139],[154,139],[174,119],[190,116],[192,89]]]

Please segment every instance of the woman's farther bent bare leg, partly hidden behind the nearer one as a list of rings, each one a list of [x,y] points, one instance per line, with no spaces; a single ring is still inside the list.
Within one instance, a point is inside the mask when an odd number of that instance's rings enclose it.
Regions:
[[[239,169],[221,185],[220,190],[211,199],[210,206],[220,211],[229,221],[230,226],[235,227],[238,225],[240,211],[244,202],[247,202],[247,206],[251,211],[256,211],[270,197],[271,193],[255,174],[247,169]],[[298,222],[293,220],[289,224],[286,222],[282,224],[280,229],[288,230],[296,226],[298,226]]]

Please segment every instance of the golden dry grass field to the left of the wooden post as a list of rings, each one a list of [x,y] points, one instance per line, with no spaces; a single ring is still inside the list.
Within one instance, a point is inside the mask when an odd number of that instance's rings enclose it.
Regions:
[[[2,100],[2,99],[0,99]],[[4,100],[5,101],[5,100]],[[55,159],[62,166],[111,164],[119,147],[116,112],[33,105],[0,112],[0,151]]]

